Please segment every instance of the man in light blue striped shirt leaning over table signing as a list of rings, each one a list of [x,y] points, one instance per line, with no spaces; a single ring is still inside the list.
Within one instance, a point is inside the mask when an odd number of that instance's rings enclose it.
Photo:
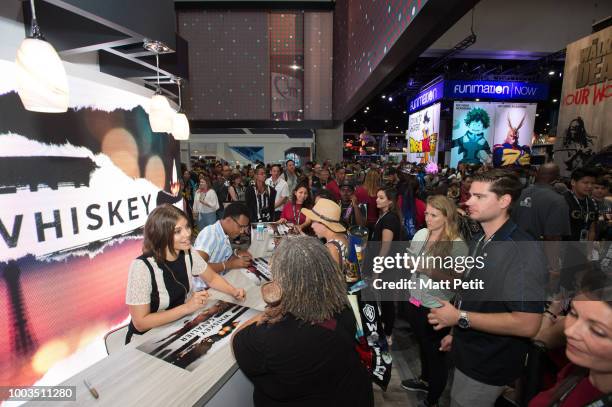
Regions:
[[[249,252],[232,251],[231,240],[249,233],[250,226],[249,209],[241,203],[229,204],[223,219],[202,229],[193,248],[217,273],[248,267],[253,256]]]

